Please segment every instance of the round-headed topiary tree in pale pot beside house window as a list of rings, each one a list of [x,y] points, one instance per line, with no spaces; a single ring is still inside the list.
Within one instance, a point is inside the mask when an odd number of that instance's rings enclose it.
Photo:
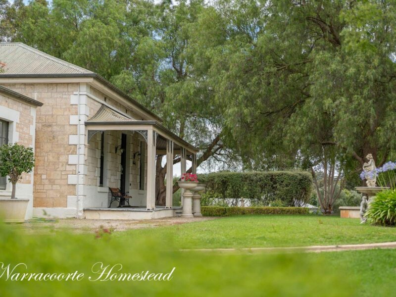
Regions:
[[[30,173],[34,166],[33,148],[18,144],[0,147],[0,175],[8,176],[12,184],[11,199],[0,198],[0,212],[5,222],[24,222],[29,199],[15,197],[16,184],[22,173]]]

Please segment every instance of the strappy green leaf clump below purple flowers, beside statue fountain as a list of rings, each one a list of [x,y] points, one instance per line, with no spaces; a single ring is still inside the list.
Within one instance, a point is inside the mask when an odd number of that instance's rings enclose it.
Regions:
[[[370,203],[365,216],[374,224],[396,225],[396,190],[382,191]]]

